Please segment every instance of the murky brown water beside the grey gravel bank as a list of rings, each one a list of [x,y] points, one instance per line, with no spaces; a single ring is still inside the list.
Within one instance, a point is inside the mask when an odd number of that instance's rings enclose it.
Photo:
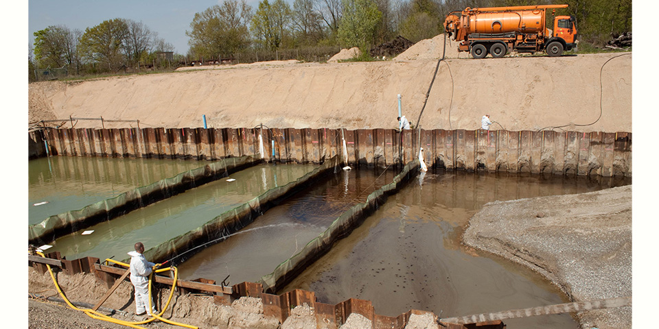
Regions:
[[[410,309],[441,317],[567,302],[557,287],[524,267],[461,244],[469,218],[487,202],[597,191],[629,180],[537,175],[426,173],[392,195],[350,236],[288,287],[319,302],[356,297],[375,313]],[[509,319],[508,328],[577,328],[570,315]]]

